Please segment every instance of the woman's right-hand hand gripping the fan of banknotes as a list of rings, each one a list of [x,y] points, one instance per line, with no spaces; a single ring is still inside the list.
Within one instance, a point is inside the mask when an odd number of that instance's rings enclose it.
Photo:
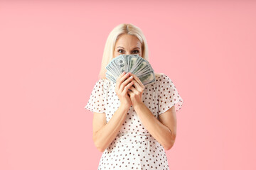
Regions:
[[[144,85],[142,84],[142,81],[140,79],[132,74],[132,82],[134,82],[134,86],[131,86],[129,89],[132,91],[128,91],[129,97],[131,98],[132,101],[132,106],[137,106],[140,103],[143,103],[142,101],[142,94],[144,92]]]

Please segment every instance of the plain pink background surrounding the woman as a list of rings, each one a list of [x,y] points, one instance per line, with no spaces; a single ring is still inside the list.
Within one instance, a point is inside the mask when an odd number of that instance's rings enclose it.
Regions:
[[[0,169],[97,169],[92,113],[107,36],[144,32],[177,112],[170,169],[256,169],[255,1],[0,1]]]

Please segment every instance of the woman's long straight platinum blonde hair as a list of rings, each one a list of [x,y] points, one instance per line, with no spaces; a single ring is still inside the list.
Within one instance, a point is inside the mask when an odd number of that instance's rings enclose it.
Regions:
[[[139,39],[139,41],[142,43],[142,58],[149,61],[148,46],[142,30],[131,23],[121,23],[116,26],[107,37],[99,74],[100,79],[106,79],[107,69],[105,67],[107,67],[107,64],[109,64],[109,62],[114,58],[114,45],[120,35],[123,34],[134,35]]]

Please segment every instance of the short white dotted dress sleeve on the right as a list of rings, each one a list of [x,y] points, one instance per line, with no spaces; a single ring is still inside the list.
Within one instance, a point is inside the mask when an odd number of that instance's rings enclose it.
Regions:
[[[183,105],[183,99],[178,94],[178,90],[174,85],[174,82],[166,76],[166,74],[160,74],[158,79],[158,108],[159,115],[169,110],[175,105],[176,112],[181,109]]]

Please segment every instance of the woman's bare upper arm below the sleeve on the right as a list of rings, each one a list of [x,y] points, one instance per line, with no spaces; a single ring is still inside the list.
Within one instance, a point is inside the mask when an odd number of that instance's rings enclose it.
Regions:
[[[176,137],[176,127],[177,127],[177,120],[176,120],[176,111],[175,106],[172,106],[164,113],[159,115],[159,121],[166,125],[174,135],[174,139]]]

